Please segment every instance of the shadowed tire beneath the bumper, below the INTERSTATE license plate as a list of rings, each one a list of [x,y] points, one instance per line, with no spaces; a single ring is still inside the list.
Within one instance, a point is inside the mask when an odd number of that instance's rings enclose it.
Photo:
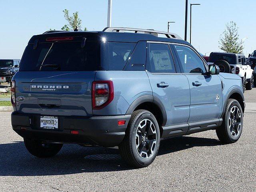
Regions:
[[[24,144],[30,154],[40,158],[47,158],[56,155],[63,146],[63,144],[46,144],[39,140],[27,138],[24,138]]]

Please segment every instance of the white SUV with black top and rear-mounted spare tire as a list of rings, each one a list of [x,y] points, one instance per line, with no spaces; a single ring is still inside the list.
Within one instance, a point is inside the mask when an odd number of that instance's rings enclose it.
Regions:
[[[212,52],[208,64],[216,64],[220,72],[237,74],[242,78],[243,91],[251,90],[254,84],[253,70],[243,54]]]

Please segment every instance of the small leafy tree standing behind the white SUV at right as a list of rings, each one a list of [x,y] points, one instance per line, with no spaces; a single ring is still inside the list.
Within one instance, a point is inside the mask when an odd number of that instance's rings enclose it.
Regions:
[[[219,48],[228,53],[242,53],[244,50],[242,40],[239,40],[238,27],[231,21],[220,36]]]

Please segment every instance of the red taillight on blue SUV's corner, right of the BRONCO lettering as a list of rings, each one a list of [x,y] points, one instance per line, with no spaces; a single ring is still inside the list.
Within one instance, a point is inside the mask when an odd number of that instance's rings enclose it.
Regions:
[[[92,108],[102,109],[114,99],[114,85],[112,81],[92,82]]]

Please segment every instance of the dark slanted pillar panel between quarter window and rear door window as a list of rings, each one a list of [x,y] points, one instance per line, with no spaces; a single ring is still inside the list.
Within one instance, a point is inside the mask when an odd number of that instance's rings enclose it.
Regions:
[[[131,70],[131,71],[145,70],[146,54],[147,54],[146,42],[139,41],[136,47],[134,48],[131,56],[128,58],[128,61],[126,63],[124,70]]]

